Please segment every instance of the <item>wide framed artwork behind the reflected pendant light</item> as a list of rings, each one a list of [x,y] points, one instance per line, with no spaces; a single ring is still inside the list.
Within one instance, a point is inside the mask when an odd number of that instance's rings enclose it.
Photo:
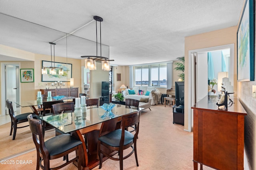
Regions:
[[[50,69],[49,69],[49,67],[51,66],[54,66],[53,62],[51,63],[50,61],[42,61],[42,67],[47,68],[47,74],[42,74],[42,82],[70,81],[70,78],[72,77],[72,64],[55,62],[55,67],[63,69],[64,71],[63,75],[58,74],[59,69],[56,69],[57,70],[56,75],[51,75]]]

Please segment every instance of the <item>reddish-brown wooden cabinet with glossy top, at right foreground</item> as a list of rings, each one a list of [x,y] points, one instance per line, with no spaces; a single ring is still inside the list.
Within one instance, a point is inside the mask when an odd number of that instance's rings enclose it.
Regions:
[[[194,106],[194,170],[210,166],[220,170],[244,169],[244,116],[239,100],[218,108],[217,96],[206,96]]]

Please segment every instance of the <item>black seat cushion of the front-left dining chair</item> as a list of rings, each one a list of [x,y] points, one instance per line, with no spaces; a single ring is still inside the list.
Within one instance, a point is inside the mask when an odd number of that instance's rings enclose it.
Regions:
[[[69,134],[58,135],[45,142],[46,149],[50,155],[63,153],[66,150],[72,149],[80,144],[82,144],[80,140],[72,137]]]

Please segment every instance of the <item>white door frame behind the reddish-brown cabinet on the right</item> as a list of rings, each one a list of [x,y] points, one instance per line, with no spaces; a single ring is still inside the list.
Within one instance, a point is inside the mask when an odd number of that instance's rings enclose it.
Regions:
[[[215,50],[221,50],[221,49],[227,49],[230,48],[230,68],[229,68],[229,77],[230,77],[230,82],[231,84],[234,85],[234,60],[235,60],[235,45],[234,43],[232,44],[226,44],[226,45],[220,45],[220,46],[215,46],[215,47],[208,47],[208,48],[203,48],[203,49],[195,49],[195,50],[190,50],[188,51],[188,129],[184,129],[185,131],[192,131],[192,121],[193,121],[193,109],[191,107],[194,105],[195,99],[194,99],[194,94],[196,90],[196,80],[195,80],[195,61],[194,61],[194,54],[195,53],[203,53],[207,51],[215,51]]]

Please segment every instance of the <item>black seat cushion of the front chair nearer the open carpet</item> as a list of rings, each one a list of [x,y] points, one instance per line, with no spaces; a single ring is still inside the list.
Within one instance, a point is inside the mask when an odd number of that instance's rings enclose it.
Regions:
[[[121,140],[122,129],[116,129],[102,137],[99,137],[99,141],[106,143],[112,147],[119,147]],[[133,141],[134,135],[128,131],[124,131],[124,145],[128,145]]]

